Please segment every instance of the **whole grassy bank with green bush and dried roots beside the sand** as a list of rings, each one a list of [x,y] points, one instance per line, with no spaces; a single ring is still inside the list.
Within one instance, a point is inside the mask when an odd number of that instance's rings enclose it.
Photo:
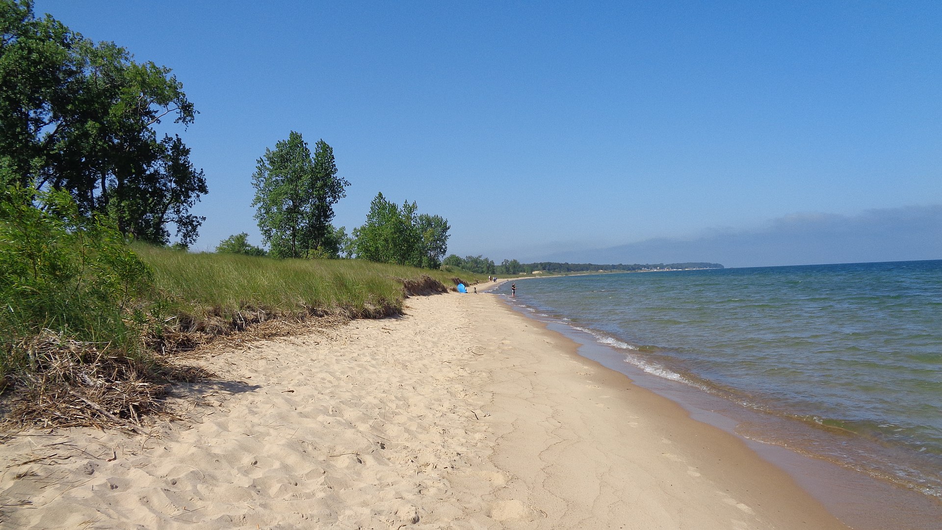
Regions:
[[[169,381],[205,375],[165,354],[272,316],[398,313],[407,290],[441,291],[454,275],[129,248],[64,191],[0,189],[0,396],[20,424],[142,432]]]

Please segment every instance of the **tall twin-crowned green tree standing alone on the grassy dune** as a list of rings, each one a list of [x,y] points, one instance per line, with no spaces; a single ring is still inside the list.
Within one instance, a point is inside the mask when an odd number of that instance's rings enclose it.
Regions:
[[[347,196],[337,176],[333,149],[317,141],[314,156],[300,133],[291,131],[275,150],[265,150],[252,174],[255,220],[276,257],[336,255],[333,205]],[[329,248],[332,247],[333,248]]]

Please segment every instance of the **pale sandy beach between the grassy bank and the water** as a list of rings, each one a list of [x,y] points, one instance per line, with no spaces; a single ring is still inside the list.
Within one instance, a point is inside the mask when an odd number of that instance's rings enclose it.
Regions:
[[[494,294],[214,355],[149,437],[4,438],[0,527],[844,528]]]

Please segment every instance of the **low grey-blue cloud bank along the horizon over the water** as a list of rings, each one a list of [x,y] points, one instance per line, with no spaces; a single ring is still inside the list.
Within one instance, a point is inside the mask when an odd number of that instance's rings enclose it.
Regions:
[[[796,214],[751,231],[719,230],[689,240],[659,238],[541,261],[677,263],[726,267],[942,259],[942,205],[870,209],[858,215]]]

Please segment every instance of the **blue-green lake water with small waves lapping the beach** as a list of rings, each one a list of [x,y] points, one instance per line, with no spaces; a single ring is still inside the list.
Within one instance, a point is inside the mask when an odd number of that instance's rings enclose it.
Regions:
[[[537,278],[512,303],[758,411],[744,436],[942,497],[942,260]]]

